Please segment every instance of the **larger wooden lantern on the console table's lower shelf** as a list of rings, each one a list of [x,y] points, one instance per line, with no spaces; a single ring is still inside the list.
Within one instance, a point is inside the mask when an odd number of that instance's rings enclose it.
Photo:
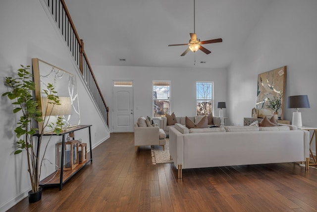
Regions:
[[[64,170],[73,169],[78,165],[78,148],[79,141],[78,140],[70,140],[65,142],[65,153],[64,153],[64,162],[61,161],[61,146],[62,142],[57,143],[57,158],[58,158],[58,167],[59,164],[64,165]]]

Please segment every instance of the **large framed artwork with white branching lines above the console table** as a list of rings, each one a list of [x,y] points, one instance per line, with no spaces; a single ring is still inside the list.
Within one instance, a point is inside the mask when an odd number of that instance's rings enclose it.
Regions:
[[[79,102],[77,93],[76,75],[62,70],[52,64],[42,61],[38,58],[32,59],[33,75],[35,82],[35,97],[42,110],[44,123],[49,121],[54,123],[58,115],[64,116],[64,127],[72,127],[80,124]],[[55,91],[59,97],[61,105],[54,109],[58,111],[52,113],[52,116],[45,116],[47,106],[47,96],[43,93],[44,89],[48,89],[48,84],[54,86]],[[39,133],[46,133],[52,131],[50,127],[44,128],[42,132],[43,123],[39,123]]]

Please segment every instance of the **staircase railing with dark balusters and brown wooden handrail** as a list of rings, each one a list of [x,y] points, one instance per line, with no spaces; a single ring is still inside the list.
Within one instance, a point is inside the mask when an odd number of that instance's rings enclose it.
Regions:
[[[70,17],[64,0],[43,0],[48,6],[50,13],[56,22],[61,36],[70,51],[78,69],[83,75],[91,95],[95,99],[96,105],[99,108],[107,126],[109,126],[109,108],[98,86],[96,77],[93,73],[88,57],[84,50],[84,42],[78,36],[74,23]]]

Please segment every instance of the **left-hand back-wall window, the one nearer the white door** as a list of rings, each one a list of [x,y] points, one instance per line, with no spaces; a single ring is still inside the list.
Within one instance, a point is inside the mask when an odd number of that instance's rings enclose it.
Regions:
[[[153,81],[153,117],[162,117],[170,111],[170,81]]]

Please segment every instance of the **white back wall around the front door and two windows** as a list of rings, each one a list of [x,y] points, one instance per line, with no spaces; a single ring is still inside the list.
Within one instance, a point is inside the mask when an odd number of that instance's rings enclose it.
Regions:
[[[225,69],[93,66],[93,70],[110,109],[112,80],[134,81],[135,121],[140,116],[152,117],[153,80],[171,81],[171,112],[174,112],[176,116],[196,114],[196,81],[214,82],[215,105],[218,101],[227,99],[227,71]],[[136,110],[137,107],[139,110]],[[214,114],[218,116],[217,108]],[[224,116],[226,116],[226,109],[224,109]],[[109,117],[111,118],[111,110]],[[111,119],[109,122],[111,126]]]

